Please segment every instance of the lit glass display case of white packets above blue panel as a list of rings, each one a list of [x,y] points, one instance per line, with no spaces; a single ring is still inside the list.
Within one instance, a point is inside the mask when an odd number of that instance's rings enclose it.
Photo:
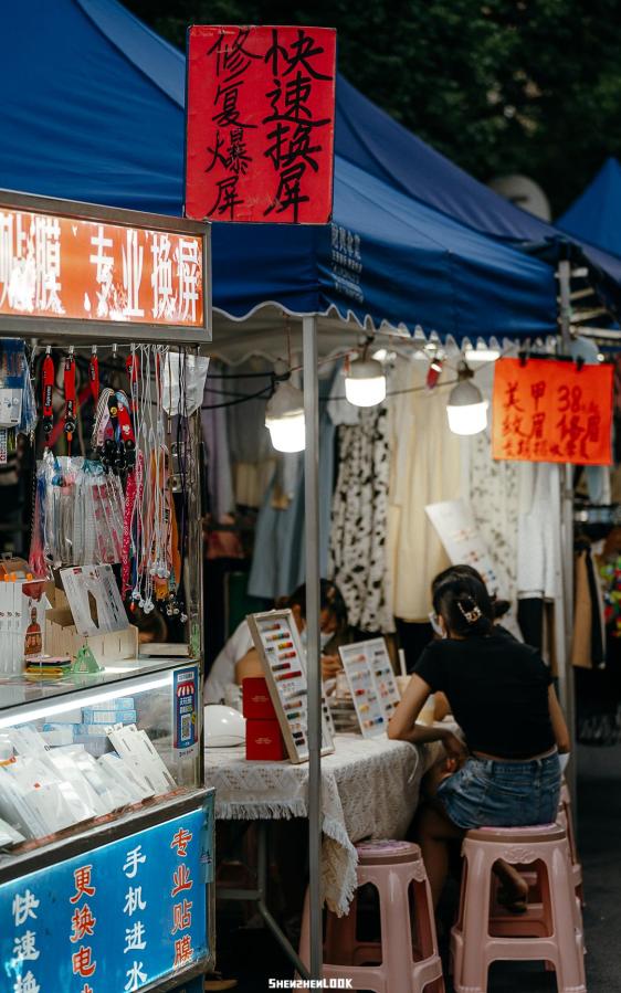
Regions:
[[[0,880],[46,845],[198,791],[199,682],[191,659],[150,658],[0,678]]]

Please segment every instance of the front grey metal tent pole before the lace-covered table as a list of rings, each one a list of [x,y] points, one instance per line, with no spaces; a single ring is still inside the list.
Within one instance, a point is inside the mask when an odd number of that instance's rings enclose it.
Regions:
[[[308,866],[310,978],[322,979],[322,669],[319,659],[319,383],[317,317],[302,321],[304,358],[304,513],[308,677]]]

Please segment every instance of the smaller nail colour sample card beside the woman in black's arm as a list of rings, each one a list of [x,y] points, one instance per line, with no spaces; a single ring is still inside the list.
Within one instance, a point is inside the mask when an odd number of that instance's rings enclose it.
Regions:
[[[400,699],[385,640],[341,645],[338,651],[362,736],[385,733]]]

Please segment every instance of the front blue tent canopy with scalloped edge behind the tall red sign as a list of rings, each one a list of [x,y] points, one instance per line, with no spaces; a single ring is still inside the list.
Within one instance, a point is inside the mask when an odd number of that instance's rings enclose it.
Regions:
[[[32,0],[29,12],[2,15],[0,186],[180,214],[183,55],[116,0]],[[555,329],[548,266],[339,156],[334,221],[215,224],[214,306],[336,307],[460,337]]]

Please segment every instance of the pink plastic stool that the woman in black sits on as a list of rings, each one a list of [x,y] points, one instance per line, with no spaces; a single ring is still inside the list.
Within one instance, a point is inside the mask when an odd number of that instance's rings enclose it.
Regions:
[[[543,960],[557,974],[558,993],[586,993],[582,920],[573,889],[569,845],[557,824],[469,831],[457,923],[451,931],[456,993],[485,993],[492,962]],[[492,907],[498,858],[537,869],[541,902],[519,917]],[[541,864],[544,870],[534,864]]]

